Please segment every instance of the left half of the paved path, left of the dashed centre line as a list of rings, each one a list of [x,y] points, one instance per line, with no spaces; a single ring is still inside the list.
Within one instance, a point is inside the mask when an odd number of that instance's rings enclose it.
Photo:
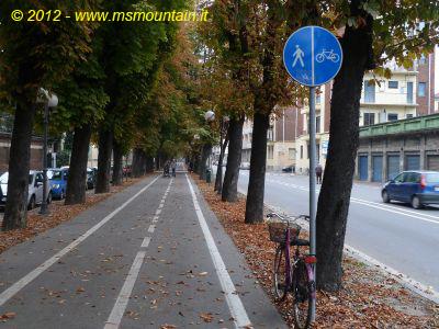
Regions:
[[[0,328],[103,328],[168,183],[146,179],[35,237],[33,242],[3,253],[0,275],[2,282],[7,279],[8,288],[0,291],[0,302],[4,302],[0,315],[15,316],[0,322]],[[55,254],[55,249],[60,252],[80,241],[102,220],[106,222],[87,239],[26,285],[20,284],[32,273],[27,263],[38,269]],[[65,241],[61,247],[57,243],[59,237]],[[40,253],[42,248],[47,250]],[[12,287],[16,293],[4,300],[4,293]]]

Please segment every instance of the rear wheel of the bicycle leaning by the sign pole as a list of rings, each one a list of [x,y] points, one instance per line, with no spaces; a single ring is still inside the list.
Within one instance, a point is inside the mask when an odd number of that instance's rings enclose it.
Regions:
[[[293,269],[293,314],[295,327],[309,328],[313,300],[313,283],[309,280],[306,264],[300,260]]]

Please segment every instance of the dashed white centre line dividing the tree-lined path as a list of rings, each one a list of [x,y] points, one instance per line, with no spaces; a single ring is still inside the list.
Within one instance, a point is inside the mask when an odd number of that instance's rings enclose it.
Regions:
[[[173,179],[170,180],[168,190],[170,189],[172,182]],[[155,225],[150,225],[148,232],[154,232],[155,228],[156,228]],[[151,240],[150,237],[146,237],[142,242],[140,248],[147,248],[149,246],[150,240]],[[122,290],[117,295],[116,303],[114,304],[113,309],[111,310],[111,314],[103,329],[117,329],[121,326],[122,318],[125,314],[126,306],[128,305],[131,294],[133,293],[133,288],[137,281],[142,265],[145,261],[145,257],[146,257],[146,251],[140,250],[137,252],[134,262],[130,269],[128,275],[126,275]]]

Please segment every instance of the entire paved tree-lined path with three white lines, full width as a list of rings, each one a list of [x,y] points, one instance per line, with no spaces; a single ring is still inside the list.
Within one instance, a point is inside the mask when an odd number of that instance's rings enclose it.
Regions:
[[[0,256],[1,328],[285,328],[184,173],[148,178]]]

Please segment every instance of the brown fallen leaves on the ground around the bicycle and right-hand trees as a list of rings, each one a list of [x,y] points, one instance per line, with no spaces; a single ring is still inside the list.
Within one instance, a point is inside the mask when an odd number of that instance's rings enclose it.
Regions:
[[[204,198],[289,326],[293,327],[290,296],[277,303],[272,294],[272,262],[275,245],[267,225],[246,225],[246,200],[225,203],[207,184],[192,175]],[[268,211],[268,209],[267,209]],[[307,238],[307,232],[301,234]],[[372,266],[344,258],[344,286],[338,293],[317,292],[314,328],[439,328],[439,306],[402,286]],[[290,306],[290,307],[289,307]]]

